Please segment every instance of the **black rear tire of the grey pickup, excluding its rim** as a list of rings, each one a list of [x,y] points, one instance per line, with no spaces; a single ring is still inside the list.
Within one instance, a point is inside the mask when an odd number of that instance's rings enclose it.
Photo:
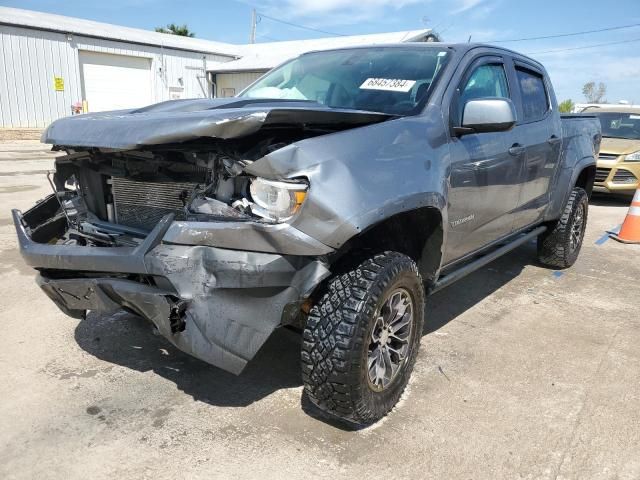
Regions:
[[[580,227],[580,241],[577,247],[572,248],[571,232],[578,219],[576,215],[581,208],[583,218]],[[574,188],[560,219],[550,224],[547,230],[538,237],[538,260],[542,264],[553,268],[567,268],[575,263],[584,239],[588,210],[589,196],[587,192],[579,187]]]

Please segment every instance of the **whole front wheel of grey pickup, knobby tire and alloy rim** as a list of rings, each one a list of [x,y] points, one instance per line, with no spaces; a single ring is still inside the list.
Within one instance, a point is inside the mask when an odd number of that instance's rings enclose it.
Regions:
[[[319,408],[368,425],[398,402],[416,360],[425,294],[415,262],[384,252],[329,281],[304,330],[305,393]]]

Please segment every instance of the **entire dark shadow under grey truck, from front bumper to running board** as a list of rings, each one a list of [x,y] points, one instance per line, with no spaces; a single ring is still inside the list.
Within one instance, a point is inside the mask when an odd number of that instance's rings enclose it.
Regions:
[[[527,244],[429,297],[424,334],[438,330],[518,276],[534,254],[535,245]],[[103,361],[153,371],[195,400],[215,406],[247,406],[279,389],[302,385],[301,339],[287,329],[276,330],[239,376],[182,353],[154,335],[146,320],[124,311],[90,312],[76,327],[75,339]],[[312,417],[349,429],[328,419],[304,397],[302,408]]]

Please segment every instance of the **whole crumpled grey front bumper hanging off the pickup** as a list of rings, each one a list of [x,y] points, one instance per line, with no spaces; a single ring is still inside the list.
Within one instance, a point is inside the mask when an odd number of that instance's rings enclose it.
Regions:
[[[314,257],[164,244],[170,215],[137,247],[36,243],[21,212],[13,219],[23,258],[62,311],[126,308],[179,349],[236,374],[329,275]]]

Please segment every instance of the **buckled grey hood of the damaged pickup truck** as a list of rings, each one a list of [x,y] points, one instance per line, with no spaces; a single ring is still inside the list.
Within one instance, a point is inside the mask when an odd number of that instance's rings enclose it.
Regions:
[[[267,125],[337,131],[388,118],[391,116],[383,113],[332,109],[299,100],[172,100],[138,109],[61,118],[44,131],[41,141],[70,147],[131,150],[202,137],[238,138]]]

